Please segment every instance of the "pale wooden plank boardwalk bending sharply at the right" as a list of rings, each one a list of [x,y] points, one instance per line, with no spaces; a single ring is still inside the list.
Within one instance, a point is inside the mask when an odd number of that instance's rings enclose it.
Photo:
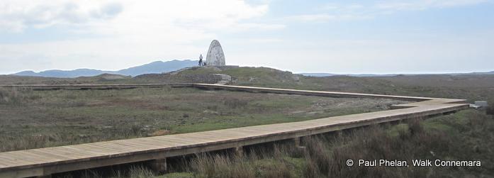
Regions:
[[[468,108],[468,104],[461,104],[464,102],[462,99],[435,99],[330,91],[220,86],[215,84],[187,84],[182,85],[181,87],[230,89],[235,91],[276,94],[386,98],[415,102],[398,105],[395,106],[395,108],[398,109],[388,111],[358,113],[310,121],[210,130],[205,132],[164,135],[149,138],[113,140],[54,148],[0,152],[0,177],[44,176],[57,172],[120,165],[147,160],[154,161],[155,164],[165,164],[164,160],[167,157],[174,157],[177,155],[189,155],[198,152],[228,148],[238,149],[245,145],[293,138],[298,139],[304,136],[327,133],[334,130],[368,126],[374,123],[398,121],[408,118],[421,118]]]

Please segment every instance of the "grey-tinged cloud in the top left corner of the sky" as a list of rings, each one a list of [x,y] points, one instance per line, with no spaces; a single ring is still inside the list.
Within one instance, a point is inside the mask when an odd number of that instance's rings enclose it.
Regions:
[[[0,30],[21,33],[26,28],[55,25],[84,25],[114,18],[122,5],[98,1],[0,1]]]

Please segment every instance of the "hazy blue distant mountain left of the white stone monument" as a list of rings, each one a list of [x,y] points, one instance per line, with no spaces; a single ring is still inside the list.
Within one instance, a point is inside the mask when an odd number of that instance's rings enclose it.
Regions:
[[[12,75],[19,76],[34,76],[34,77],[60,77],[60,78],[72,78],[72,77],[92,77],[99,74],[122,74],[137,76],[140,74],[160,74],[164,72],[172,72],[185,67],[192,67],[197,65],[197,61],[193,60],[172,60],[172,61],[156,61],[146,65],[140,65],[137,67],[130,67],[128,69],[120,69],[118,71],[105,71],[99,69],[74,69],[74,70],[46,70],[42,72],[23,71]]]

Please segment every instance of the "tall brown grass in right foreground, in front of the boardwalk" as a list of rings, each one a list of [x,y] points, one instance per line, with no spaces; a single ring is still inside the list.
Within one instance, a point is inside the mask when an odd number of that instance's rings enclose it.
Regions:
[[[196,177],[485,177],[494,173],[494,140],[472,136],[493,129],[494,121],[485,114],[462,111],[306,138],[302,154],[288,142],[243,156],[199,155],[189,170]],[[410,165],[412,159],[481,160],[482,167],[348,167],[348,159],[407,160]]]

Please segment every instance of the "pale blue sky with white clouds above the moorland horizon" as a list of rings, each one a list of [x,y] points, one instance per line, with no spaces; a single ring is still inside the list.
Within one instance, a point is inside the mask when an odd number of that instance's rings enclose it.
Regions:
[[[494,0],[2,0],[0,74],[197,60],[339,74],[494,70]]]

